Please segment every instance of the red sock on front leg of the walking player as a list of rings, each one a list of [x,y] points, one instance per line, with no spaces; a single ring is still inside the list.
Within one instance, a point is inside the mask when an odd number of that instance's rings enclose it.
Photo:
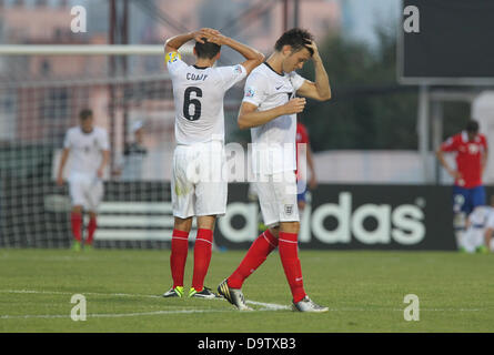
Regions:
[[[298,251],[298,235],[295,233],[280,232],[280,258],[292,291],[293,302],[300,302],[305,297],[302,281],[302,266],[300,265]]]

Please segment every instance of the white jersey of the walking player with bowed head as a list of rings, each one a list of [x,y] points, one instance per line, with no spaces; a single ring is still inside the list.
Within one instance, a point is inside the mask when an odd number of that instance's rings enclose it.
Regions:
[[[255,68],[245,81],[243,101],[271,110],[295,98],[305,79],[292,71],[280,75],[268,63]],[[251,129],[254,173],[274,174],[296,170],[296,114],[281,115]]]

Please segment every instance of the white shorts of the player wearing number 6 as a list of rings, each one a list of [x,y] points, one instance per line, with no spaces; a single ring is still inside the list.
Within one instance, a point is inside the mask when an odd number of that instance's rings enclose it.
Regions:
[[[224,215],[228,179],[223,145],[178,145],[171,181],[173,215],[180,219]]]

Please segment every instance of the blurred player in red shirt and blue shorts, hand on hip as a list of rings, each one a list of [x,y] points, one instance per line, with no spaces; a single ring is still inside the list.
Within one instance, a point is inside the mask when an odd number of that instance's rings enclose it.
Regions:
[[[456,169],[450,166],[444,153],[455,153]],[[466,216],[481,205],[485,205],[485,190],[482,174],[487,161],[487,140],[478,133],[478,123],[470,120],[465,130],[448,138],[436,151],[436,156],[447,173],[454,179],[453,227],[456,246],[461,250]]]

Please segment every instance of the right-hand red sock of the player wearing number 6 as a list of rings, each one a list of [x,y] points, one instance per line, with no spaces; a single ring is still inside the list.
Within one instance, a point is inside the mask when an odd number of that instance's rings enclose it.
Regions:
[[[200,292],[204,287],[205,274],[211,262],[211,248],[213,246],[213,231],[198,230],[194,245],[194,275],[192,287]]]

